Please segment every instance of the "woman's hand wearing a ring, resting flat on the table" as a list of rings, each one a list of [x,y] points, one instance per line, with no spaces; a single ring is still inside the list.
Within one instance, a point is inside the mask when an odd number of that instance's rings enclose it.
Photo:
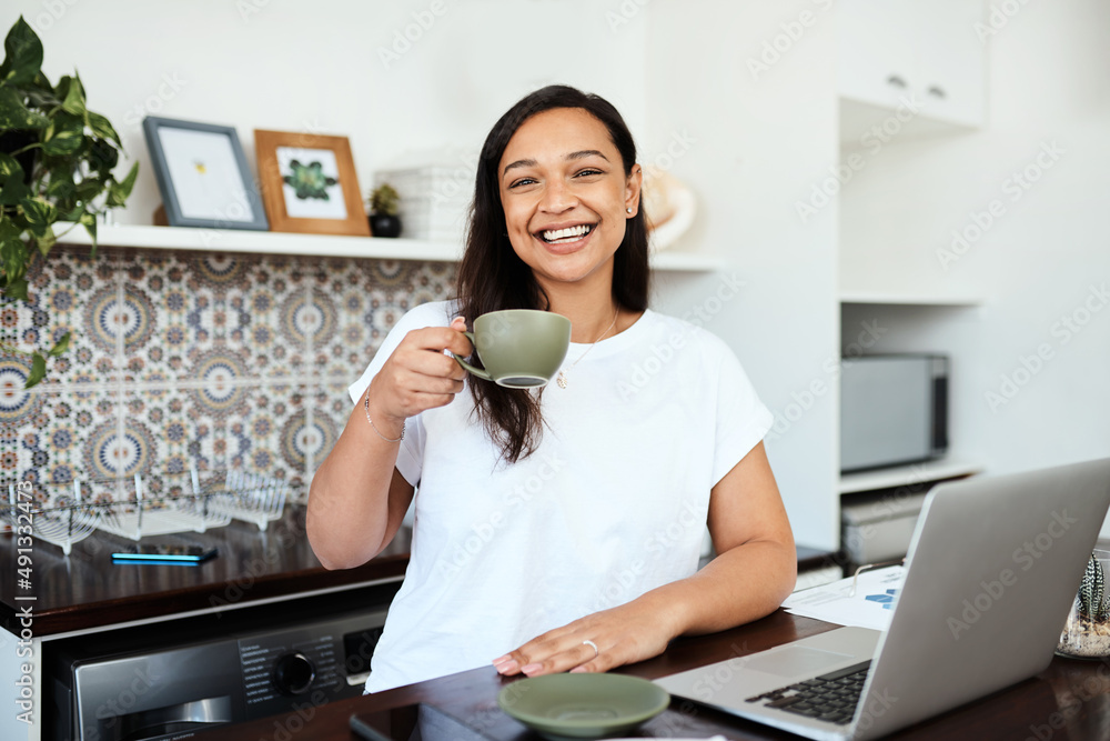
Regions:
[[[604,672],[656,657],[680,631],[674,630],[665,614],[660,614],[666,608],[653,602],[640,598],[549,630],[495,659],[494,668],[505,675],[528,677],[564,671]],[[597,647],[596,654],[586,641]]]

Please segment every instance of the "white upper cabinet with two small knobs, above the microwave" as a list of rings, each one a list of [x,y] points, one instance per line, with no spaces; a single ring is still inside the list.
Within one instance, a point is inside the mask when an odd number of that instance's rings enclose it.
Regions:
[[[898,114],[906,130],[983,124],[981,0],[841,0],[838,12],[837,86],[849,141],[884,113]]]

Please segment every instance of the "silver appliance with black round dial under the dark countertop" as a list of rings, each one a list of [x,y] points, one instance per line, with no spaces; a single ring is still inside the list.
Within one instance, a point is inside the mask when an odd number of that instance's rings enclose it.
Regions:
[[[362,693],[400,582],[43,645],[44,739],[183,739]]]

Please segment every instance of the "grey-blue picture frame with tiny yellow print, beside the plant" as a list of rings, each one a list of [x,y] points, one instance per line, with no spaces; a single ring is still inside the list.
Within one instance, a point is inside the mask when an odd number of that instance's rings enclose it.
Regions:
[[[153,116],[143,119],[142,126],[162,193],[165,223],[208,229],[269,228],[235,129]]]

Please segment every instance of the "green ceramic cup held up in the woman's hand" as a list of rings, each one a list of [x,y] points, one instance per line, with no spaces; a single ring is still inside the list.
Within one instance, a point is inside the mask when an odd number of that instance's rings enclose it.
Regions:
[[[558,372],[571,347],[571,320],[549,311],[508,309],[491,311],[474,320],[466,332],[483,368],[458,356],[467,371],[509,389],[545,385]]]

